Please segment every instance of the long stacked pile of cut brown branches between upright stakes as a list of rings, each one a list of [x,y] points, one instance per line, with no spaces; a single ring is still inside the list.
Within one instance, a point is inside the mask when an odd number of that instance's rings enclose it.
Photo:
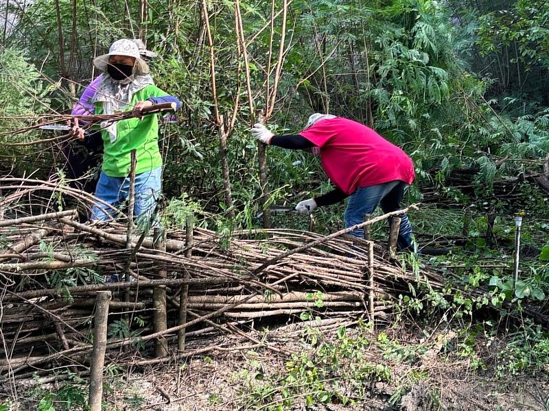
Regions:
[[[159,360],[174,351],[170,342],[175,340],[177,355],[186,356],[185,338],[244,334],[243,323],[288,322],[303,312],[320,316],[320,326],[365,315],[383,318],[395,295],[419,281],[384,247],[375,245],[372,255],[373,243],[347,236],[288,229],[221,236],[190,223],[165,232],[157,228],[153,235],[128,231],[115,221],[80,223],[75,210],[22,212],[13,206],[16,201],[30,199],[30,210],[38,191],[51,188],[34,183],[33,190],[30,182],[19,182],[17,194],[1,203],[3,379],[47,373],[60,364],[89,364],[100,290],[113,296],[107,359],[123,362],[128,358],[121,358],[124,350],[133,347],[137,353],[148,342],[154,343]],[[8,184],[14,182],[1,187]],[[372,266],[374,281],[369,282]],[[423,271],[421,278],[443,287],[434,271]],[[372,306],[370,295],[375,297]]]

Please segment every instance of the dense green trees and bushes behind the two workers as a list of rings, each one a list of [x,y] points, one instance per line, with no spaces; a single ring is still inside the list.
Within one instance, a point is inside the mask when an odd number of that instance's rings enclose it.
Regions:
[[[536,169],[535,160],[549,151],[549,36],[541,1],[473,7],[459,1],[295,0],[284,33],[284,14],[270,29],[271,6],[279,12],[283,1],[244,1],[247,66],[235,29],[237,3],[208,3],[215,99],[202,3],[147,5],[142,16],[137,1],[127,7],[117,1],[10,3],[14,25],[4,30],[0,66],[0,99],[9,102],[2,113],[66,111],[89,82],[93,55],[121,36],[143,37],[159,53],[152,64],[156,83],[184,101],[179,123],[165,130],[167,197],[187,193],[202,199],[206,210],[224,210],[221,119],[234,206],[244,212],[244,225],[261,196],[257,146],[247,133],[253,120],[247,68],[252,107],[272,108],[274,129],[298,131],[311,112],[357,119],[410,153],[419,181],[430,178],[432,167],[441,169],[436,177],[443,182],[452,169],[474,166],[489,187],[498,175]],[[11,75],[13,70],[21,74]],[[17,124],[3,121],[3,130],[10,127]],[[325,181],[309,155],[271,149],[268,157],[272,200],[299,200]],[[497,167],[502,158],[512,161]]]

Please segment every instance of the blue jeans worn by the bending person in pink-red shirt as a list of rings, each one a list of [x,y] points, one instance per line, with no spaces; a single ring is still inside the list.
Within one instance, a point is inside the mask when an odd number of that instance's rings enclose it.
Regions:
[[[381,206],[383,212],[400,210],[400,202],[408,184],[395,180],[375,186],[360,187],[349,197],[345,210],[345,227],[352,227],[364,221],[364,214],[372,214],[377,206]],[[399,238],[397,247],[399,250],[414,251],[412,238],[412,225],[406,214],[402,214],[400,221]],[[388,219],[390,226],[391,219]],[[352,236],[364,238],[364,229],[359,228],[349,233]]]

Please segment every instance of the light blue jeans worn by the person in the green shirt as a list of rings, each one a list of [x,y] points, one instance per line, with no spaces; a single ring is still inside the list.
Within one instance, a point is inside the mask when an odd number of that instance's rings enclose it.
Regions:
[[[145,171],[135,176],[134,215],[151,216],[156,207],[156,199],[162,190],[162,167]],[[95,188],[95,197],[118,208],[130,195],[130,177],[109,177],[103,171]],[[97,203],[91,210],[91,219],[107,221],[115,216],[115,210],[103,203]]]

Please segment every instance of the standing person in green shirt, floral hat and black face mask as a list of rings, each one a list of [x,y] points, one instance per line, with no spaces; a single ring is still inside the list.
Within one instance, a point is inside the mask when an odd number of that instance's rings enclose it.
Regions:
[[[93,60],[102,71],[92,101],[95,114],[115,114],[132,110],[135,118],[102,124],[104,154],[95,197],[102,202],[93,206],[91,219],[106,221],[127,198],[130,186],[131,151],[136,150],[134,214],[150,215],[162,187],[162,158],[159,151],[159,122],[156,114],[143,116],[142,110],[153,104],[181,102],[177,97],[154,86],[149,66],[139,55],[139,47],[129,39],[117,40],[109,52]],[[75,120],[71,134],[84,138],[84,129]]]

